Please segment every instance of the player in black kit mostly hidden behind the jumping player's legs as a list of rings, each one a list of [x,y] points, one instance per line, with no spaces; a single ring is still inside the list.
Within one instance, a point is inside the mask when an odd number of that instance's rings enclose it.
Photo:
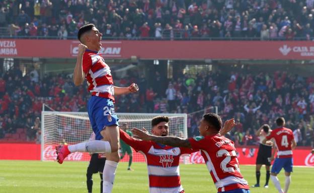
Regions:
[[[95,140],[95,133],[93,132],[91,134],[90,141]],[[105,167],[106,162],[106,156],[103,153],[92,153],[91,154],[91,160],[89,163],[89,166],[87,168],[86,173],[86,184],[87,184],[87,190],[89,193],[92,193],[93,190],[93,174],[98,173],[100,174],[100,193],[103,193],[103,170]]]

